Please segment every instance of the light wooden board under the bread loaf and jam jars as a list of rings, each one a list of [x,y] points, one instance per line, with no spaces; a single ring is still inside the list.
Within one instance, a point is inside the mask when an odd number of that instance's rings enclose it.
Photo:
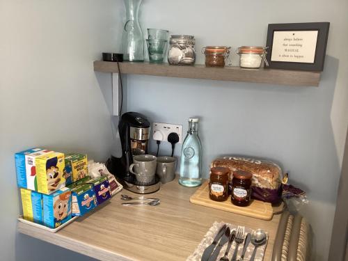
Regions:
[[[237,207],[231,203],[231,196],[228,200],[218,202],[209,198],[209,180],[202,184],[197,191],[191,196],[190,202],[205,207],[212,207],[227,212],[251,216],[256,219],[271,220],[273,216],[273,208],[271,203],[253,199],[248,207]]]

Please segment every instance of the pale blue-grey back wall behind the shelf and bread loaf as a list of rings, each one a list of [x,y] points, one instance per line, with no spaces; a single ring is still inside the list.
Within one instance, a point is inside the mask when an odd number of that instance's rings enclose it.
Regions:
[[[145,0],[141,8],[145,36],[146,28],[195,35],[197,63],[205,45],[265,45],[270,23],[331,22],[319,88],[127,78],[129,110],[184,129],[187,118],[200,116],[206,176],[209,162],[228,153],[274,159],[290,171],[290,181],[308,191],[303,214],[315,232],[315,260],[326,260],[348,122],[348,2]],[[161,146],[168,154],[170,145]]]

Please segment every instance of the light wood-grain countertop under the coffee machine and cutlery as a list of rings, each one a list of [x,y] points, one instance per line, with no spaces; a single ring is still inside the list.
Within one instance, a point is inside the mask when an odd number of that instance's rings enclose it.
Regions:
[[[262,221],[189,203],[196,188],[177,180],[162,185],[161,205],[122,206],[120,194],[109,203],[52,233],[19,222],[18,231],[98,260],[186,260],[214,221],[263,228],[269,232],[264,260],[271,260],[279,215]],[[135,195],[127,190],[121,193]]]

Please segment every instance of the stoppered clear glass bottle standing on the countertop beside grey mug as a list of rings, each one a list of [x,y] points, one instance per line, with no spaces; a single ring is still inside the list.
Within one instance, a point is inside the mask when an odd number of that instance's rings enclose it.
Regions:
[[[185,187],[202,184],[202,145],[198,137],[198,118],[189,118],[189,129],[182,143],[179,183]]]

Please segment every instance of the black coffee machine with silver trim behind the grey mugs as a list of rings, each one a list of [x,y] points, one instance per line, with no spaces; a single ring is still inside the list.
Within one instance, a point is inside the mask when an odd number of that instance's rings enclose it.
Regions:
[[[111,155],[106,167],[122,183],[125,189],[135,193],[153,193],[159,190],[159,177],[148,183],[139,182],[134,174],[129,173],[129,166],[133,157],[148,154],[150,139],[150,122],[141,113],[123,113],[118,122],[118,133],[122,148],[121,157]]]

